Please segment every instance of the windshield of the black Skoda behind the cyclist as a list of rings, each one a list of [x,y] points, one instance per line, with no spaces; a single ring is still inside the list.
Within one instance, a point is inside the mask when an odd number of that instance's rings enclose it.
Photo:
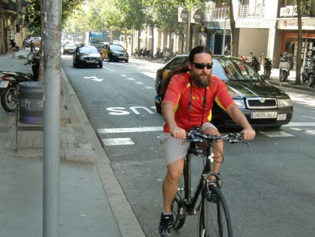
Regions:
[[[212,74],[222,81],[260,80],[260,76],[246,62],[236,58],[213,59]]]

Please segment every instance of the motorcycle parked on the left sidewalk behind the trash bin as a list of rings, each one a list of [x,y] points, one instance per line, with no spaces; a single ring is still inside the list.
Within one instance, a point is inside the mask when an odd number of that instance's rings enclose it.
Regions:
[[[20,82],[29,82],[38,80],[39,72],[39,57],[35,56],[36,53],[29,54],[27,58],[20,55],[19,59],[27,59],[27,64],[32,64],[31,73],[21,73],[21,72],[10,72],[10,71],[0,71],[4,74],[0,78],[0,97],[2,108],[7,112],[13,112],[17,108],[17,85]],[[29,56],[32,56],[32,59],[29,59]]]

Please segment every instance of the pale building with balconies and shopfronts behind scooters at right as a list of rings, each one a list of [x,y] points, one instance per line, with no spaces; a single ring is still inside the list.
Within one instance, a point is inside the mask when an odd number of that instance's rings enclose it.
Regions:
[[[249,56],[250,52],[256,56],[264,55],[273,59],[273,66],[276,67],[280,54],[288,51],[294,55],[296,63],[296,0],[233,0],[233,11],[238,55]],[[301,7],[301,11],[303,61],[307,55],[315,55],[315,2],[310,0],[308,5]],[[224,44],[231,43],[228,13],[229,7],[217,1],[212,3],[212,10],[206,15],[206,46],[215,54],[222,53],[224,25]]]

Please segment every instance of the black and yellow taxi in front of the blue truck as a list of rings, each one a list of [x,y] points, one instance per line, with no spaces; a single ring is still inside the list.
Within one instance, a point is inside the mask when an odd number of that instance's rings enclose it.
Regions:
[[[129,55],[123,46],[120,44],[104,44],[100,49],[102,58],[111,61],[125,61],[128,63]]]

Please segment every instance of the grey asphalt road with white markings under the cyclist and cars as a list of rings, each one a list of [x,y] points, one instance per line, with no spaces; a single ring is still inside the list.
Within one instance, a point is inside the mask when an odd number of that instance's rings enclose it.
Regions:
[[[103,68],[74,68],[72,56],[62,56],[62,67],[142,229],[146,236],[156,237],[166,169],[157,138],[163,120],[153,100],[161,64],[137,59],[103,64]],[[236,237],[315,233],[315,95],[283,89],[293,100],[292,123],[257,131],[250,146],[225,144],[220,172]],[[201,167],[202,159],[196,157],[194,183]],[[188,216],[176,236],[196,233],[197,216]]]

